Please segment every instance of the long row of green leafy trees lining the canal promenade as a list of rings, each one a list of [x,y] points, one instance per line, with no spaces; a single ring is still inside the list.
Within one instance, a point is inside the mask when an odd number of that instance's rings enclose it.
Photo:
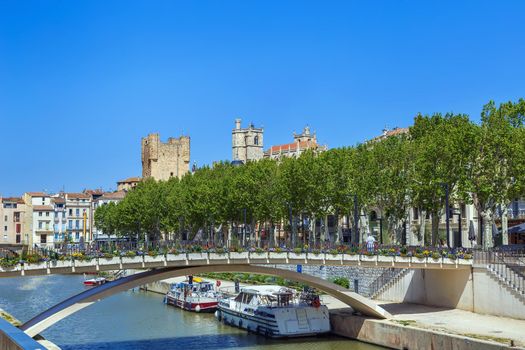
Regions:
[[[483,107],[479,123],[464,114],[417,115],[408,133],[375,139],[320,154],[305,152],[280,161],[263,159],[244,166],[222,162],[182,179],[147,179],[119,204],[101,206],[97,228],[131,238],[181,238],[188,232],[215,242],[236,238],[232,228],[247,223],[252,239],[285,223],[290,242],[297,231],[308,242],[339,242],[315,222],[328,214],[351,221],[354,198],[359,212],[374,209],[399,237],[408,209],[431,218],[430,241],[438,241],[445,186],[451,201],[474,204],[482,217],[484,242],[498,206],[525,194],[525,100]],[[301,220],[296,220],[301,218]],[[297,222],[300,225],[297,225]],[[308,223],[304,227],[303,223]],[[291,223],[291,225],[290,225]],[[244,226],[244,225],[241,225]],[[326,227],[326,222],[324,223]],[[361,231],[367,230],[361,218]],[[426,236],[425,225],[419,234]],[[201,237],[202,238],[202,237]]]

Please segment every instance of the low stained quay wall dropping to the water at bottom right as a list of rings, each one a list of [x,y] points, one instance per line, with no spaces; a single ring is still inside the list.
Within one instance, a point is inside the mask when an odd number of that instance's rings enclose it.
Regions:
[[[392,349],[501,350],[510,347],[510,344],[368,319],[344,310],[331,310],[330,322],[332,332],[339,336]]]

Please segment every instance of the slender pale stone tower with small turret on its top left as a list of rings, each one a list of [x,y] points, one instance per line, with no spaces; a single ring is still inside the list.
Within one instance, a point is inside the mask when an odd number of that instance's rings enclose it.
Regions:
[[[235,119],[235,129],[232,130],[233,161],[246,163],[247,161],[262,159],[263,132],[263,128],[256,128],[253,124],[242,129],[241,120]]]

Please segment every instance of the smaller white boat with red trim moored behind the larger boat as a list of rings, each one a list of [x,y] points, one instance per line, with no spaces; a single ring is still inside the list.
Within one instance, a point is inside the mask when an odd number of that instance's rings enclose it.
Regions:
[[[166,294],[166,304],[195,312],[213,312],[217,309],[219,295],[213,288],[213,283],[198,277],[189,281],[173,284]]]

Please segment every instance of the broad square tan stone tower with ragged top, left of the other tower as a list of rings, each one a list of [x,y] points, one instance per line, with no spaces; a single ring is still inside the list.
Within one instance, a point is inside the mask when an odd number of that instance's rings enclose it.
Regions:
[[[160,141],[159,134],[142,138],[142,178],[155,180],[179,179],[190,170],[190,138],[170,137],[168,142]]]

